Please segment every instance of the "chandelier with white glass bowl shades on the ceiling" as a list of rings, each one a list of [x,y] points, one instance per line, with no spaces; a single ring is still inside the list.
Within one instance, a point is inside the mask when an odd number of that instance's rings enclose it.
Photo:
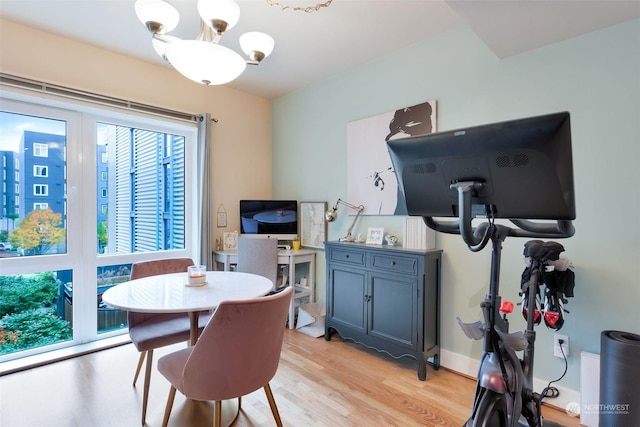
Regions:
[[[273,38],[260,32],[240,36],[245,60],[235,51],[218,44],[226,30],[240,19],[240,7],[233,0],[198,0],[200,32],[195,40],[166,35],[178,25],[180,15],[163,0],[137,0],[136,15],[153,35],[155,51],[180,74],[197,83],[222,85],[238,78],[247,64],[258,65],[274,46]]]

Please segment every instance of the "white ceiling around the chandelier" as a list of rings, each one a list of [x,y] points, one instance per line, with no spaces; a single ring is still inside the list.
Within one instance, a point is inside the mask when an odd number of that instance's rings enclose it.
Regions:
[[[170,35],[195,38],[200,22],[196,1],[168,1],[180,12]],[[220,43],[242,53],[238,37],[262,31],[276,45],[262,64],[248,66],[228,86],[269,99],[461,25],[505,58],[640,17],[640,0],[329,0],[328,7],[312,13],[270,4],[276,0],[236,1],[240,21]],[[134,0],[0,0],[0,16],[168,66],[137,20]]]

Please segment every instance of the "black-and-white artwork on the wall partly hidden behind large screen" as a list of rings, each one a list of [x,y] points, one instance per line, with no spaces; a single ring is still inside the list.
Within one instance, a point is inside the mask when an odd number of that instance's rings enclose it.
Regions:
[[[436,132],[436,101],[347,124],[347,200],[363,215],[406,215],[387,141]]]

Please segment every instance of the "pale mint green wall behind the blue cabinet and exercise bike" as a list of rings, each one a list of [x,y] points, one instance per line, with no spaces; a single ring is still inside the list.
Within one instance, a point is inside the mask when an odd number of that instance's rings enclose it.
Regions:
[[[347,197],[347,123],[427,100],[438,102],[438,128],[453,129],[567,110],[571,112],[577,187],[575,237],[563,240],[575,264],[576,297],[561,333],[570,337],[569,372],[560,384],[579,389],[580,351],[599,353],[606,329],[640,333],[640,21],[635,20],[506,59],[467,28],[442,34],[273,103],[273,193],[303,201]],[[357,203],[357,200],[351,202]],[[345,234],[341,208],[329,239]],[[402,236],[402,218],[367,216],[358,230],[382,226]],[[504,244],[501,294],[518,300],[522,245]],[[480,342],[455,317],[480,318],[490,251],[471,253],[458,236],[438,235],[444,250],[442,347],[478,359]],[[318,296],[325,260],[318,253]],[[522,329],[519,313],[510,317]],[[552,331],[538,328],[536,377],[564,365],[553,357]]]

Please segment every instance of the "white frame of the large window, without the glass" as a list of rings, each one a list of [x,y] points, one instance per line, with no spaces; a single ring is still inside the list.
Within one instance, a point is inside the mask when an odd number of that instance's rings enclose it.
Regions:
[[[197,123],[184,120],[160,119],[157,116],[122,111],[117,108],[97,108],[81,101],[58,99],[54,95],[31,96],[21,91],[0,92],[3,111],[17,114],[65,120],[67,122],[67,253],[34,257],[0,259],[2,275],[29,274],[41,271],[73,270],[73,339],[56,343],[45,348],[25,350],[9,357],[0,356],[0,362],[33,354],[47,353],[57,349],[100,341],[127,333],[127,329],[98,333],[96,307],[96,277],[101,266],[128,264],[136,261],[161,259],[166,257],[191,257],[199,261],[199,239],[196,235],[199,212],[199,188],[197,177]],[[83,250],[83,239],[88,239],[89,247],[97,247],[97,158],[96,123],[111,122],[121,126],[150,129],[156,132],[185,136],[185,247],[179,250],[130,253],[98,254],[97,251]],[[94,141],[94,143],[82,143]],[[89,162],[89,163],[86,163]],[[72,241],[73,240],[73,241]],[[93,242],[93,243],[92,243]],[[85,245],[87,244],[84,242]],[[85,246],[86,247],[86,246]],[[80,284],[86,283],[82,286]],[[17,356],[17,357],[13,357]]]

